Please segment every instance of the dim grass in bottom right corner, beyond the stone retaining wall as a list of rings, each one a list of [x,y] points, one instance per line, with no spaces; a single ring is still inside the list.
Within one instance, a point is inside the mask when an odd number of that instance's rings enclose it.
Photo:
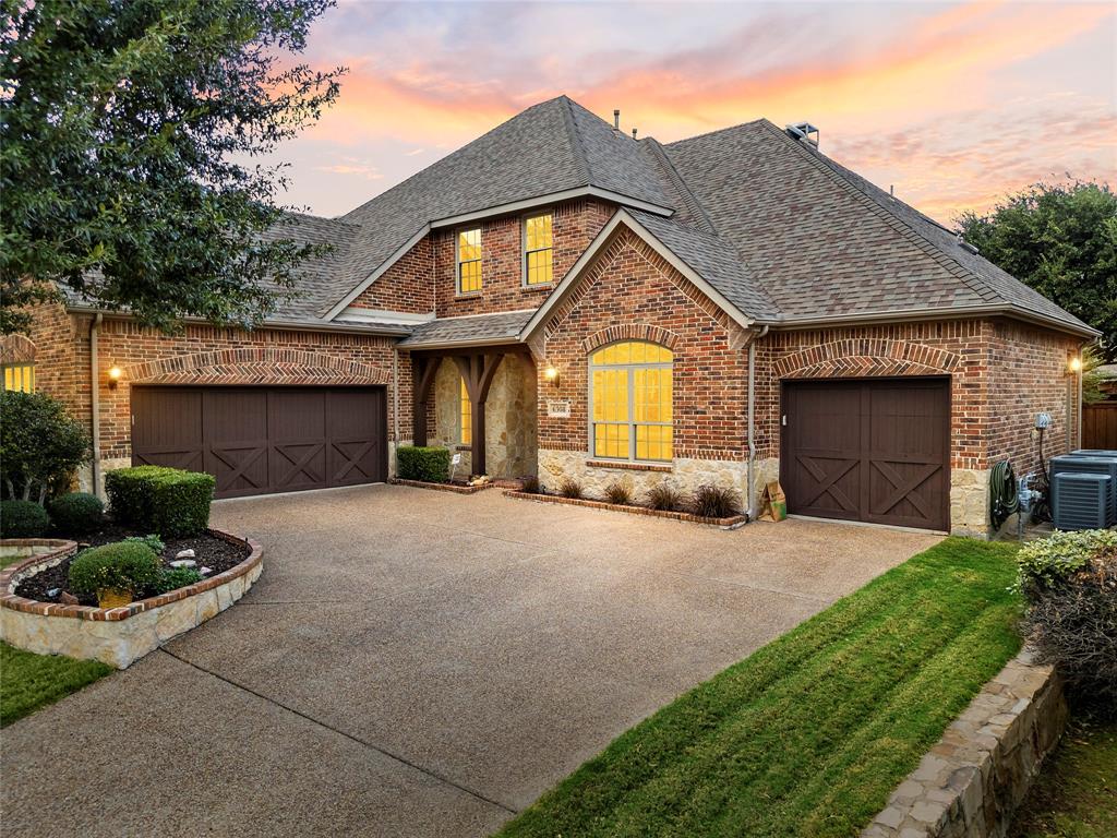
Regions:
[[[1071,718],[1009,829],[1011,838],[1117,835],[1117,720]]]

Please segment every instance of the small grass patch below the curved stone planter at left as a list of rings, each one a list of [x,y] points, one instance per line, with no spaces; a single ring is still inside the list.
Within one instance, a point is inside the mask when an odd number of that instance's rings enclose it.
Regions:
[[[35,655],[0,642],[0,727],[113,672],[99,660]]]

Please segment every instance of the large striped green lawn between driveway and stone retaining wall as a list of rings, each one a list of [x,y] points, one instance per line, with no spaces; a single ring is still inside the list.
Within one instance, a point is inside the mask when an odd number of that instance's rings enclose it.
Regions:
[[[622,734],[500,835],[856,835],[1019,649],[1014,552],[920,553]]]

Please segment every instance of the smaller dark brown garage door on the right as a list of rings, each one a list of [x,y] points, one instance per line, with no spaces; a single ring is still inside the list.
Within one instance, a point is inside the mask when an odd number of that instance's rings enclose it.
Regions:
[[[948,379],[783,384],[787,511],[947,530]]]

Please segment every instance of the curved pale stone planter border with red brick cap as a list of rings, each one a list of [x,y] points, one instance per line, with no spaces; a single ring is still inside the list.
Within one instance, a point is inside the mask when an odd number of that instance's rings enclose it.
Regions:
[[[0,546],[30,549],[32,555],[0,571],[0,639],[39,655],[66,655],[127,668],[172,637],[227,609],[259,578],[264,570],[259,544],[220,530],[207,532],[251,552],[227,571],[122,608],[63,606],[17,597],[16,588],[26,577],[73,555],[77,544],[49,539],[3,540]]]

